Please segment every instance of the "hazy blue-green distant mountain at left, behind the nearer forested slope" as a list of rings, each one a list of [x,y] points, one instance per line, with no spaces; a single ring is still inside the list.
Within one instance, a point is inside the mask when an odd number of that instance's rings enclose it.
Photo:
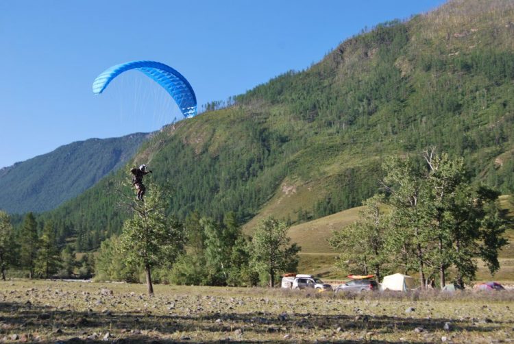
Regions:
[[[0,209],[23,213],[56,208],[127,163],[147,136],[90,138],[0,169]]]

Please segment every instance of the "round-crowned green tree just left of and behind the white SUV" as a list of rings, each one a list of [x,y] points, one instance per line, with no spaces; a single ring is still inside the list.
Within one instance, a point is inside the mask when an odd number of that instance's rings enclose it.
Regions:
[[[284,221],[268,217],[260,221],[252,238],[252,261],[258,271],[267,276],[268,285],[275,286],[280,273],[295,272],[300,247],[289,245],[289,226]],[[295,266],[296,265],[296,266]]]

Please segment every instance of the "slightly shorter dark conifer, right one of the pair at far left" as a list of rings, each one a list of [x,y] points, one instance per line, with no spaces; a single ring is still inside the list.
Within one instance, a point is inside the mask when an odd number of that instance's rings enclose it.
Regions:
[[[34,272],[37,275],[49,278],[59,271],[60,254],[56,243],[56,234],[53,223],[47,221],[39,238],[39,250],[34,264]]]

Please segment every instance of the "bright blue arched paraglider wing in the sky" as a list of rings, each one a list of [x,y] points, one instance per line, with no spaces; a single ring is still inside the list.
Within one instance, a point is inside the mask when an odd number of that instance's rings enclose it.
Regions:
[[[184,117],[195,116],[197,103],[193,87],[182,74],[160,62],[132,61],[112,66],[97,76],[93,82],[93,93],[99,95],[112,82],[112,79],[131,69],[144,73],[162,86],[173,97]]]

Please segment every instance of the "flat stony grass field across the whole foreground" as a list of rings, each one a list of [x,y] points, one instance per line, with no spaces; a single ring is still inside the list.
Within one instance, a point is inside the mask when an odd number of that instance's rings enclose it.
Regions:
[[[11,280],[0,282],[0,341],[509,343],[513,293],[316,293]]]

